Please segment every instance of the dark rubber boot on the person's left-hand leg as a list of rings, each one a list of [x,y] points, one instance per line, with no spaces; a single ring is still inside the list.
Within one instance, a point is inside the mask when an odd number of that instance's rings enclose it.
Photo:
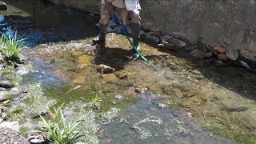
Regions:
[[[98,37],[93,39],[94,45],[96,44],[105,45],[107,30],[108,30],[108,25],[99,24]]]

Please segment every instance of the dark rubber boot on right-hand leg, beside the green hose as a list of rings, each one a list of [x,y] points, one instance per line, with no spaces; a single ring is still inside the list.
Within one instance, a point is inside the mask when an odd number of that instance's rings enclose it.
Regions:
[[[140,23],[131,23],[130,26],[131,26],[131,32],[132,32],[134,46],[136,46],[137,50],[140,51],[138,42],[139,42],[139,38],[140,38],[139,32],[141,30],[141,24]]]

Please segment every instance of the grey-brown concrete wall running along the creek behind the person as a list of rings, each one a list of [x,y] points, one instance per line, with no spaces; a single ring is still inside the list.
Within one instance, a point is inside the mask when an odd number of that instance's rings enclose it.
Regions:
[[[101,0],[43,0],[99,14]],[[142,26],[256,53],[256,0],[141,0]],[[229,45],[226,45],[226,44]]]

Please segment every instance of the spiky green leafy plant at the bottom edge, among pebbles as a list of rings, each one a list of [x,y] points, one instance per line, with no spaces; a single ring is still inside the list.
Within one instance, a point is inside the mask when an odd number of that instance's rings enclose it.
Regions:
[[[66,122],[61,108],[57,110],[54,108],[55,116],[53,120],[42,118],[44,122],[43,130],[41,131],[45,137],[54,144],[74,144],[78,141],[78,138],[81,137],[79,131],[76,130],[76,127],[80,122],[81,118],[74,122]]]

